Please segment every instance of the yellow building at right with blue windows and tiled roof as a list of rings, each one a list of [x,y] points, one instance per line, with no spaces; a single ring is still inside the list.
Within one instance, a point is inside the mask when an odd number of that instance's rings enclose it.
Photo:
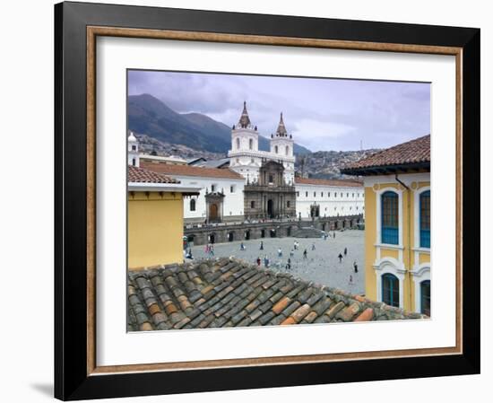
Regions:
[[[342,170],[364,177],[366,296],[431,313],[430,136]]]

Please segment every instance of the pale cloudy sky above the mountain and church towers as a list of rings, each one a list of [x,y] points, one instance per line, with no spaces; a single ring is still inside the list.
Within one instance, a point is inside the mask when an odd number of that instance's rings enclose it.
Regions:
[[[228,126],[247,101],[263,136],[275,132],[282,111],[288,132],[312,151],[384,148],[430,131],[429,83],[130,71],[128,92]]]

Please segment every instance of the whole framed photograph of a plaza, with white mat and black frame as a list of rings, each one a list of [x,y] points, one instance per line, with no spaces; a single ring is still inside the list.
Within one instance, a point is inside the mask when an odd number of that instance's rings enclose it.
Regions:
[[[480,30],[55,22],[57,399],[480,372]]]

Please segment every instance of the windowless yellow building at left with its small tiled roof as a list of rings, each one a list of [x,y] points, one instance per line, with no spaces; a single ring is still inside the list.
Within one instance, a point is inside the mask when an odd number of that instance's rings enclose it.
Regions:
[[[134,165],[127,178],[128,268],[183,262],[183,197],[199,189]]]

